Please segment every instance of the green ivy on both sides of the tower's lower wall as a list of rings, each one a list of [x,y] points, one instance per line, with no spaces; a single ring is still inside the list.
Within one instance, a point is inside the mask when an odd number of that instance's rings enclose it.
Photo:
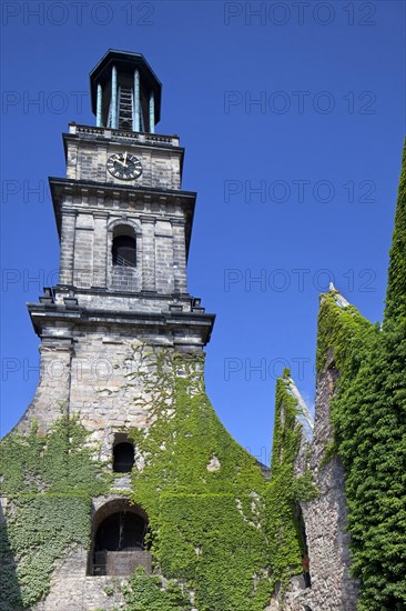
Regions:
[[[122,493],[148,513],[155,572],[165,579],[139,571],[123,591],[126,608],[150,610],[155,597],[156,610],[263,610],[272,588],[267,483],[215,415],[202,359],[134,345],[140,350],[149,372],[132,371],[126,383],[140,387],[141,377],[140,401],[153,392],[154,402],[148,427],[128,430],[135,467],[131,491]],[[32,609],[49,592],[55,560],[75,545],[90,549],[92,499],[118,493],[111,464],[98,455],[80,414],[61,415],[45,435],[33,425],[29,435],[13,431],[2,440],[4,609]],[[169,592],[168,579],[177,583]]]

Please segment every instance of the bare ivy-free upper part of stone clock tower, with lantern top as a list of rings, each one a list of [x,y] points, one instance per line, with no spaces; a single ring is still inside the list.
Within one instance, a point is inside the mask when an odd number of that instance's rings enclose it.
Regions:
[[[60,280],[29,304],[43,375],[19,427],[35,419],[47,430],[58,400],[109,452],[113,429],[143,418],[129,408],[129,371],[118,367],[129,342],[202,353],[214,315],[187,292],[196,196],[181,188],[179,138],[154,133],[160,81],[141,54],[110,50],[90,83],[98,127],[69,126],[67,178],[50,179]],[[94,401],[90,385],[105,381],[114,400]]]

